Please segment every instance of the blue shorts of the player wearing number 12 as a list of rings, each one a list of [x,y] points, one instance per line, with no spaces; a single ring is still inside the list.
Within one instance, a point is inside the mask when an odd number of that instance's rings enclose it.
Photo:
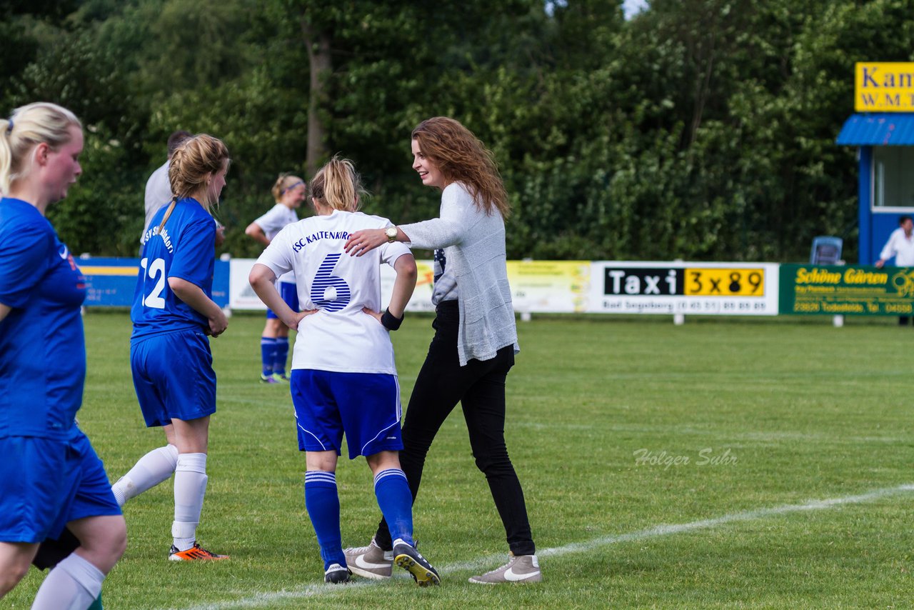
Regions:
[[[130,368],[147,427],[216,412],[216,372],[202,331],[182,330],[132,343]]]

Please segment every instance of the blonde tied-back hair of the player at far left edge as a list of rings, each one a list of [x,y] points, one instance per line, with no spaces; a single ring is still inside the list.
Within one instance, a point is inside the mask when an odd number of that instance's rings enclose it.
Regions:
[[[8,193],[19,178],[27,177],[33,158],[27,158],[37,144],[52,150],[67,144],[69,128],[82,129],[80,119],[56,103],[33,102],[20,106],[8,119],[0,119],[0,193]]]

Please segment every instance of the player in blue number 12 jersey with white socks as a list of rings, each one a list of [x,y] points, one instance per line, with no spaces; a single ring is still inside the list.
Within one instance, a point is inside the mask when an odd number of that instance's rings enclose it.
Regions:
[[[216,373],[207,336],[228,320],[213,302],[218,202],[228,171],[228,149],[199,134],[181,144],[168,177],[175,197],[150,222],[133,294],[130,362],[133,387],[148,427],[162,426],[164,447],[154,449],[112,490],[118,504],[175,473],[172,561],[221,560],[197,544],[207,489],[209,416],[216,412]]]

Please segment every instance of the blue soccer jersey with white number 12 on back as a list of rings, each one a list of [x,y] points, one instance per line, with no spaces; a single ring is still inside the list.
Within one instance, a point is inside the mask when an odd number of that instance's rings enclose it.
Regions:
[[[194,198],[180,199],[160,228],[170,206],[156,212],[144,236],[140,275],[133,294],[131,340],[180,330],[209,329],[205,316],[177,298],[168,286],[175,277],[213,297],[216,223]]]

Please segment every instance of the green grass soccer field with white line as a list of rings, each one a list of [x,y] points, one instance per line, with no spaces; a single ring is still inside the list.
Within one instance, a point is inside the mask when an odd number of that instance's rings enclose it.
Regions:
[[[404,405],[430,321],[409,316],[394,334]],[[163,435],[143,427],[133,395],[128,317],[85,322],[80,422],[116,479]],[[415,507],[420,548],[441,569],[434,589],[405,575],[324,585],[288,390],[257,381],[261,327],[235,316],[212,341],[218,412],[197,533],[232,559],[166,561],[165,483],[125,507],[129,548],[107,608],[912,605],[914,330],[894,320],[519,324],[506,433],[544,582],[466,582],[507,548],[458,409]],[[344,544],[366,544],[378,510],[364,460],[341,461],[337,480]],[[42,578],[32,570],[2,605],[27,608]]]

